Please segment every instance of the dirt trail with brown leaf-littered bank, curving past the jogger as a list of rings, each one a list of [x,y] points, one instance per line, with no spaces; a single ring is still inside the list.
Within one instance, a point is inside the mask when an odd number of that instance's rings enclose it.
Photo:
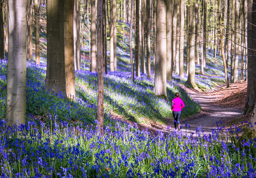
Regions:
[[[226,126],[227,128],[232,125],[233,120],[240,117],[245,105],[247,82],[231,84],[229,88],[225,86],[218,87],[209,92],[198,92],[185,86],[183,88],[201,106],[200,113],[180,120],[181,131],[184,134],[194,132],[194,136],[196,136],[198,127],[201,127],[207,135],[217,127]],[[173,121],[173,118],[165,118],[166,124],[151,122],[151,125],[139,124],[138,126],[142,129],[147,128],[154,134],[157,130],[168,132],[168,126],[171,127],[171,131],[174,131]]]

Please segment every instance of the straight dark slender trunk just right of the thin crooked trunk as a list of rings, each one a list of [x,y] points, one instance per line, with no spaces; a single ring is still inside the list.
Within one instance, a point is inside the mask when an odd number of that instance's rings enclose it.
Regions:
[[[136,24],[135,24],[135,64],[136,64],[136,76],[140,77],[140,57],[139,57],[139,47],[140,47],[140,15],[139,15],[139,6],[140,1],[135,0],[136,2]]]

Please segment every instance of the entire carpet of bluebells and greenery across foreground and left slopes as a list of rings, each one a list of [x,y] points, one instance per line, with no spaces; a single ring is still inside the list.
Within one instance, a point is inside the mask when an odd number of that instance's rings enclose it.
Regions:
[[[45,48],[40,66],[28,61],[26,124],[13,129],[5,125],[7,61],[0,60],[1,177],[256,177],[256,139],[242,140],[236,126],[211,135],[200,127],[191,133],[187,124],[186,135],[139,130],[137,124],[172,118],[171,106],[155,96],[154,78],[142,74],[131,81],[128,46],[118,43],[118,71],[104,75],[103,135],[95,120],[97,73],[89,72],[88,60],[82,58],[83,70],[75,72],[75,101],[45,90]],[[205,75],[196,66],[202,90],[225,83],[221,58],[211,51],[207,57]],[[186,80],[174,75],[167,84],[169,101],[180,92],[185,103],[182,118],[200,111],[181,87]]]

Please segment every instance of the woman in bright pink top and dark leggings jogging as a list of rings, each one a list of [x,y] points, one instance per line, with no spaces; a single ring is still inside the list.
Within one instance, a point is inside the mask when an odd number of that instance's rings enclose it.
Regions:
[[[181,129],[180,118],[181,118],[181,109],[184,108],[185,105],[180,99],[180,93],[175,93],[175,98],[172,100],[172,115],[174,118],[174,127],[176,129],[176,124],[178,124],[178,130]]]

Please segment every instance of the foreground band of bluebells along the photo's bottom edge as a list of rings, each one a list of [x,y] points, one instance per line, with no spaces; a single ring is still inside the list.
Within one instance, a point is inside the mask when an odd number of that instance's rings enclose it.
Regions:
[[[97,127],[50,118],[52,125],[29,121],[13,129],[0,122],[1,177],[256,176],[256,139],[236,139],[236,126],[151,135],[116,122],[100,135]]]

